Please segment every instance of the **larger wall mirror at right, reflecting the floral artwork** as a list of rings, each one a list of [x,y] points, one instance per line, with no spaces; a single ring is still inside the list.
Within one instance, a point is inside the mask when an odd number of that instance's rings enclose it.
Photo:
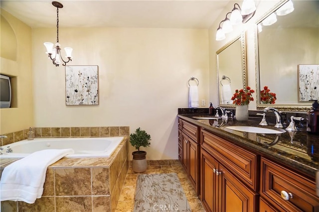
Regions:
[[[276,94],[274,107],[307,111],[319,97],[319,0],[282,0],[256,25],[257,109],[260,91]]]

